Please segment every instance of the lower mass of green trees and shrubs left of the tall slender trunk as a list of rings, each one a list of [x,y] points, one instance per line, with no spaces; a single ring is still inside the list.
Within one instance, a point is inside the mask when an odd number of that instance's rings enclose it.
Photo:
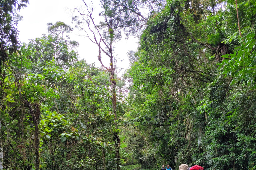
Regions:
[[[108,75],[83,60],[72,61],[75,52],[67,47],[44,36],[2,62],[4,168],[34,167],[36,129],[43,169],[116,166]]]

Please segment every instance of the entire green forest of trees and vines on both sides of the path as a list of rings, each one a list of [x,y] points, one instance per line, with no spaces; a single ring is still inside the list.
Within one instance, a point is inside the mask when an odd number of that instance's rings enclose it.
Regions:
[[[0,168],[256,169],[255,0],[101,0],[105,21],[90,25],[87,8],[73,22],[88,24],[102,68],[78,60],[63,22],[18,44],[15,5],[27,2],[0,3]],[[122,31],[140,37],[126,98],[113,52]]]

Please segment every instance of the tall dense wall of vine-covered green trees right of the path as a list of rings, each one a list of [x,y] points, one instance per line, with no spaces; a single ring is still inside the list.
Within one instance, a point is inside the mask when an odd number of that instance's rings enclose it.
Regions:
[[[242,38],[233,1],[167,1],[149,19],[124,122],[144,168],[256,168],[255,1],[238,3]]]

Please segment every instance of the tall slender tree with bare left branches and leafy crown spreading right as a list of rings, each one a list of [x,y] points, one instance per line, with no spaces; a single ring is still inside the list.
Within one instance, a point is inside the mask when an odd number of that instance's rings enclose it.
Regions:
[[[104,67],[110,74],[110,81],[112,85],[112,109],[115,115],[115,126],[116,131],[114,134],[114,140],[116,142],[116,153],[115,157],[117,160],[120,159],[119,147],[120,138],[118,136],[117,128],[117,100],[116,100],[116,61],[114,58],[114,43],[121,39],[122,31],[126,36],[132,34],[136,35],[138,31],[142,30],[147,23],[149,16],[160,11],[165,4],[165,0],[157,1],[138,1],[138,0],[101,0],[100,6],[103,11],[100,12],[100,16],[103,21],[99,24],[95,22],[94,19],[94,6],[92,1],[88,1],[92,5],[92,9],[88,7],[86,2],[83,3],[86,7],[85,11],[80,11],[75,9],[80,16],[85,20],[87,24],[87,29],[83,27],[83,21],[79,20],[78,16],[73,17],[73,22],[76,23],[76,27],[82,31],[85,31],[86,36],[95,43],[99,48],[98,60],[100,61],[102,67]],[[147,9],[146,13],[142,12]],[[103,55],[102,55],[103,54]],[[102,62],[102,57],[106,55],[109,57],[110,65],[106,66]],[[118,166],[119,168],[119,166]]]

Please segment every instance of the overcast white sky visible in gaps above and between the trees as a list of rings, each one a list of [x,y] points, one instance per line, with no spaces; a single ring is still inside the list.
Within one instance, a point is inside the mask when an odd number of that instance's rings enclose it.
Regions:
[[[94,17],[96,18],[101,7],[99,6],[99,0],[93,0],[93,2],[95,7]],[[84,7],[82,0],[30,0],[29,3],[28,7],[18,12],[23,16],[23,20],[18,24],[19,40],[25,43],[28,43],[30,39],[41,37],[42,34],[48,34],[47,23],[63,21],[74,28],[74,25],[71,24],[72,12],[70,9]],[[101,64],[97,59],[97,46],[81,35],[84,34],[77,30],[70,35],[71,40],[78,41],[80,44],[77,48],[80,58],[84,58],[88,63],[94,62],[97,67],[100,67]],[[130,37],[126,40],[123,36],[122,40],[115,44],[117,66],[123,68],[119,76],[129,67],[127,52],[128,50],[136,50],[137,42],[137,38]],[[106,56],[102,60],[109,63],[109,58]]]

